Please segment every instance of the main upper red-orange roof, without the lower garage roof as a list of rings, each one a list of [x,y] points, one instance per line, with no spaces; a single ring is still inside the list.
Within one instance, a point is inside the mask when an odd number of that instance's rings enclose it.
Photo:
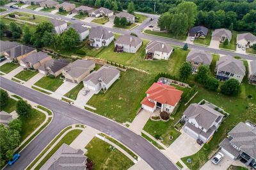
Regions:
[[[161,84],[154,82],[152,86],[146,91],[148,98],[155,100],[161,104],[168,104],[175,106],[182,95],[183,91],[176,89],[168,84]]]

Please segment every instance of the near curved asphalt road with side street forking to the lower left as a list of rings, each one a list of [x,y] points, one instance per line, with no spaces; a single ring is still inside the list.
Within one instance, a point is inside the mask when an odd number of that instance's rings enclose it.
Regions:
[[[148,143],[147,140],[114,121],[93,114],[90,111],[79,109],[73,105],[68,105],[61,100],[26,88],[3,77],[0,77],[0,82],[1,88],[43,105],[54,112],[51,124],[20,153],[21,157],[13,166],[6,167],[5,169],[25,169],[63,128],[74,123],[83,123],[111,135],[124,143],[125,146],[131,148],[154,169],[177,169],[161,151]]]

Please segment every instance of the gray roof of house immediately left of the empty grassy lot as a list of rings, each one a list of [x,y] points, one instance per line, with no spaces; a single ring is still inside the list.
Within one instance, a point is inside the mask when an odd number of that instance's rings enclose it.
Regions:
[[[104,65],[99,70],[90,73],[83,81],[91,81],[93,84],[97,85],[99,82],[104,82],[108,84],[110,81],[120,73],[114,66]]]

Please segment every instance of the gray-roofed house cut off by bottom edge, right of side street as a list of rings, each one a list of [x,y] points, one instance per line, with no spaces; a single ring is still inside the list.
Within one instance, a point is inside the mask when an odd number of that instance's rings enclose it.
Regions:
[[[76,150],[63,143],[45,162],[41,170],[86,170],[87,157],[82,150]]]

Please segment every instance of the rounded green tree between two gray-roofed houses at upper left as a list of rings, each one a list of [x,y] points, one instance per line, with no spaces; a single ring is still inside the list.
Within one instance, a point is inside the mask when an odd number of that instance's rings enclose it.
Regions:
[[[61,45],[65,49],[72,49],[76,47],[78,42],[79,35],[72,27],[61,35]]]

